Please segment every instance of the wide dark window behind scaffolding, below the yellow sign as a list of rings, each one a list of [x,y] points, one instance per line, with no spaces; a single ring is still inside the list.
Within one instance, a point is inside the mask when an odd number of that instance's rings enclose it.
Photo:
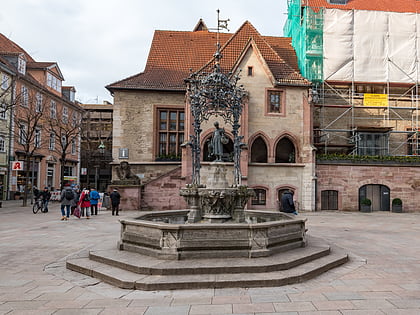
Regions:
[[[389,133],[358,132],[356,137],[358,155],[388,155]]]

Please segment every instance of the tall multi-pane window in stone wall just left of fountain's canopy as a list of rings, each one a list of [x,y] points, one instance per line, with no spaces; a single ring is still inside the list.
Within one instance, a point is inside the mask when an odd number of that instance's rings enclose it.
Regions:
[[[158,110],[158,157],[180,159],[184,142],[185,114],[182,109]]]

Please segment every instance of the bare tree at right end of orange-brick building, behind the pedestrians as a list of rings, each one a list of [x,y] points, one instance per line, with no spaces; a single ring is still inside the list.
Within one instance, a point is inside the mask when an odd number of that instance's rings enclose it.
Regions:
[[[55,137],[56,145],[50,147],[60,155],[60,186],[64,186],[64,167],[67,156],[77,153],[80,141],[81,113],[63,105],[56,119],[50,119],[48,131],[51,137]]]

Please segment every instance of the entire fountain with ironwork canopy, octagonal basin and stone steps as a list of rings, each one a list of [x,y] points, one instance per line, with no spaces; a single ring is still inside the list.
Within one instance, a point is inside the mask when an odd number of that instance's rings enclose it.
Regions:
[[[245,210],[254,192],[241,183],[240,155],[245,144],[240,116],[246,93],[239,76],[222,73],[220,46],[211,73],[192,73],[186,80],[194,134],[185,143],[191,151],[192,181],[180,189],[187,209],[152,211],[120,220],[118,249],[91,251],[88,258],[67,261],[67,268],[122,288],[276,286],[303,281],[347,261],[323,244],[307,245],[306,219],[274,211]],[[201,123],[220,117],[233,135],[231,163],[222,159],[224,129],[211,140],[215,161],[201,183]]]

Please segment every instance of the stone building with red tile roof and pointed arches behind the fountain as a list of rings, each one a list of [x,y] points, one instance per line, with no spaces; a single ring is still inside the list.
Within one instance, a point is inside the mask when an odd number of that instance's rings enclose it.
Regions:
[[[312,209],[310,82],[299,72],[291,39],[263,36],[249,21],[234,33],[211,32],[202,20],[193,31],[155,31],[144,71],[106,86],[114,96],[113,179],[116,166],[127,161],[144,185],[139,207],[185,207],[179,188],[191,181],[191,152],[181,144],[193,134],[185,80],[192,72],[213,71],[218,42],[221,71],[239,74],[248,95],[240,129],[248,147],[241,173],[242,182],[258,192],[252,207],[276,208],[281,194],[291,189],[302,209]],[[204,182],[216,119],[202,124]],[[221,127],[229,136],[224,159],[232,170],[231,126]],[[119,190],[132,196],[125,189]]]

